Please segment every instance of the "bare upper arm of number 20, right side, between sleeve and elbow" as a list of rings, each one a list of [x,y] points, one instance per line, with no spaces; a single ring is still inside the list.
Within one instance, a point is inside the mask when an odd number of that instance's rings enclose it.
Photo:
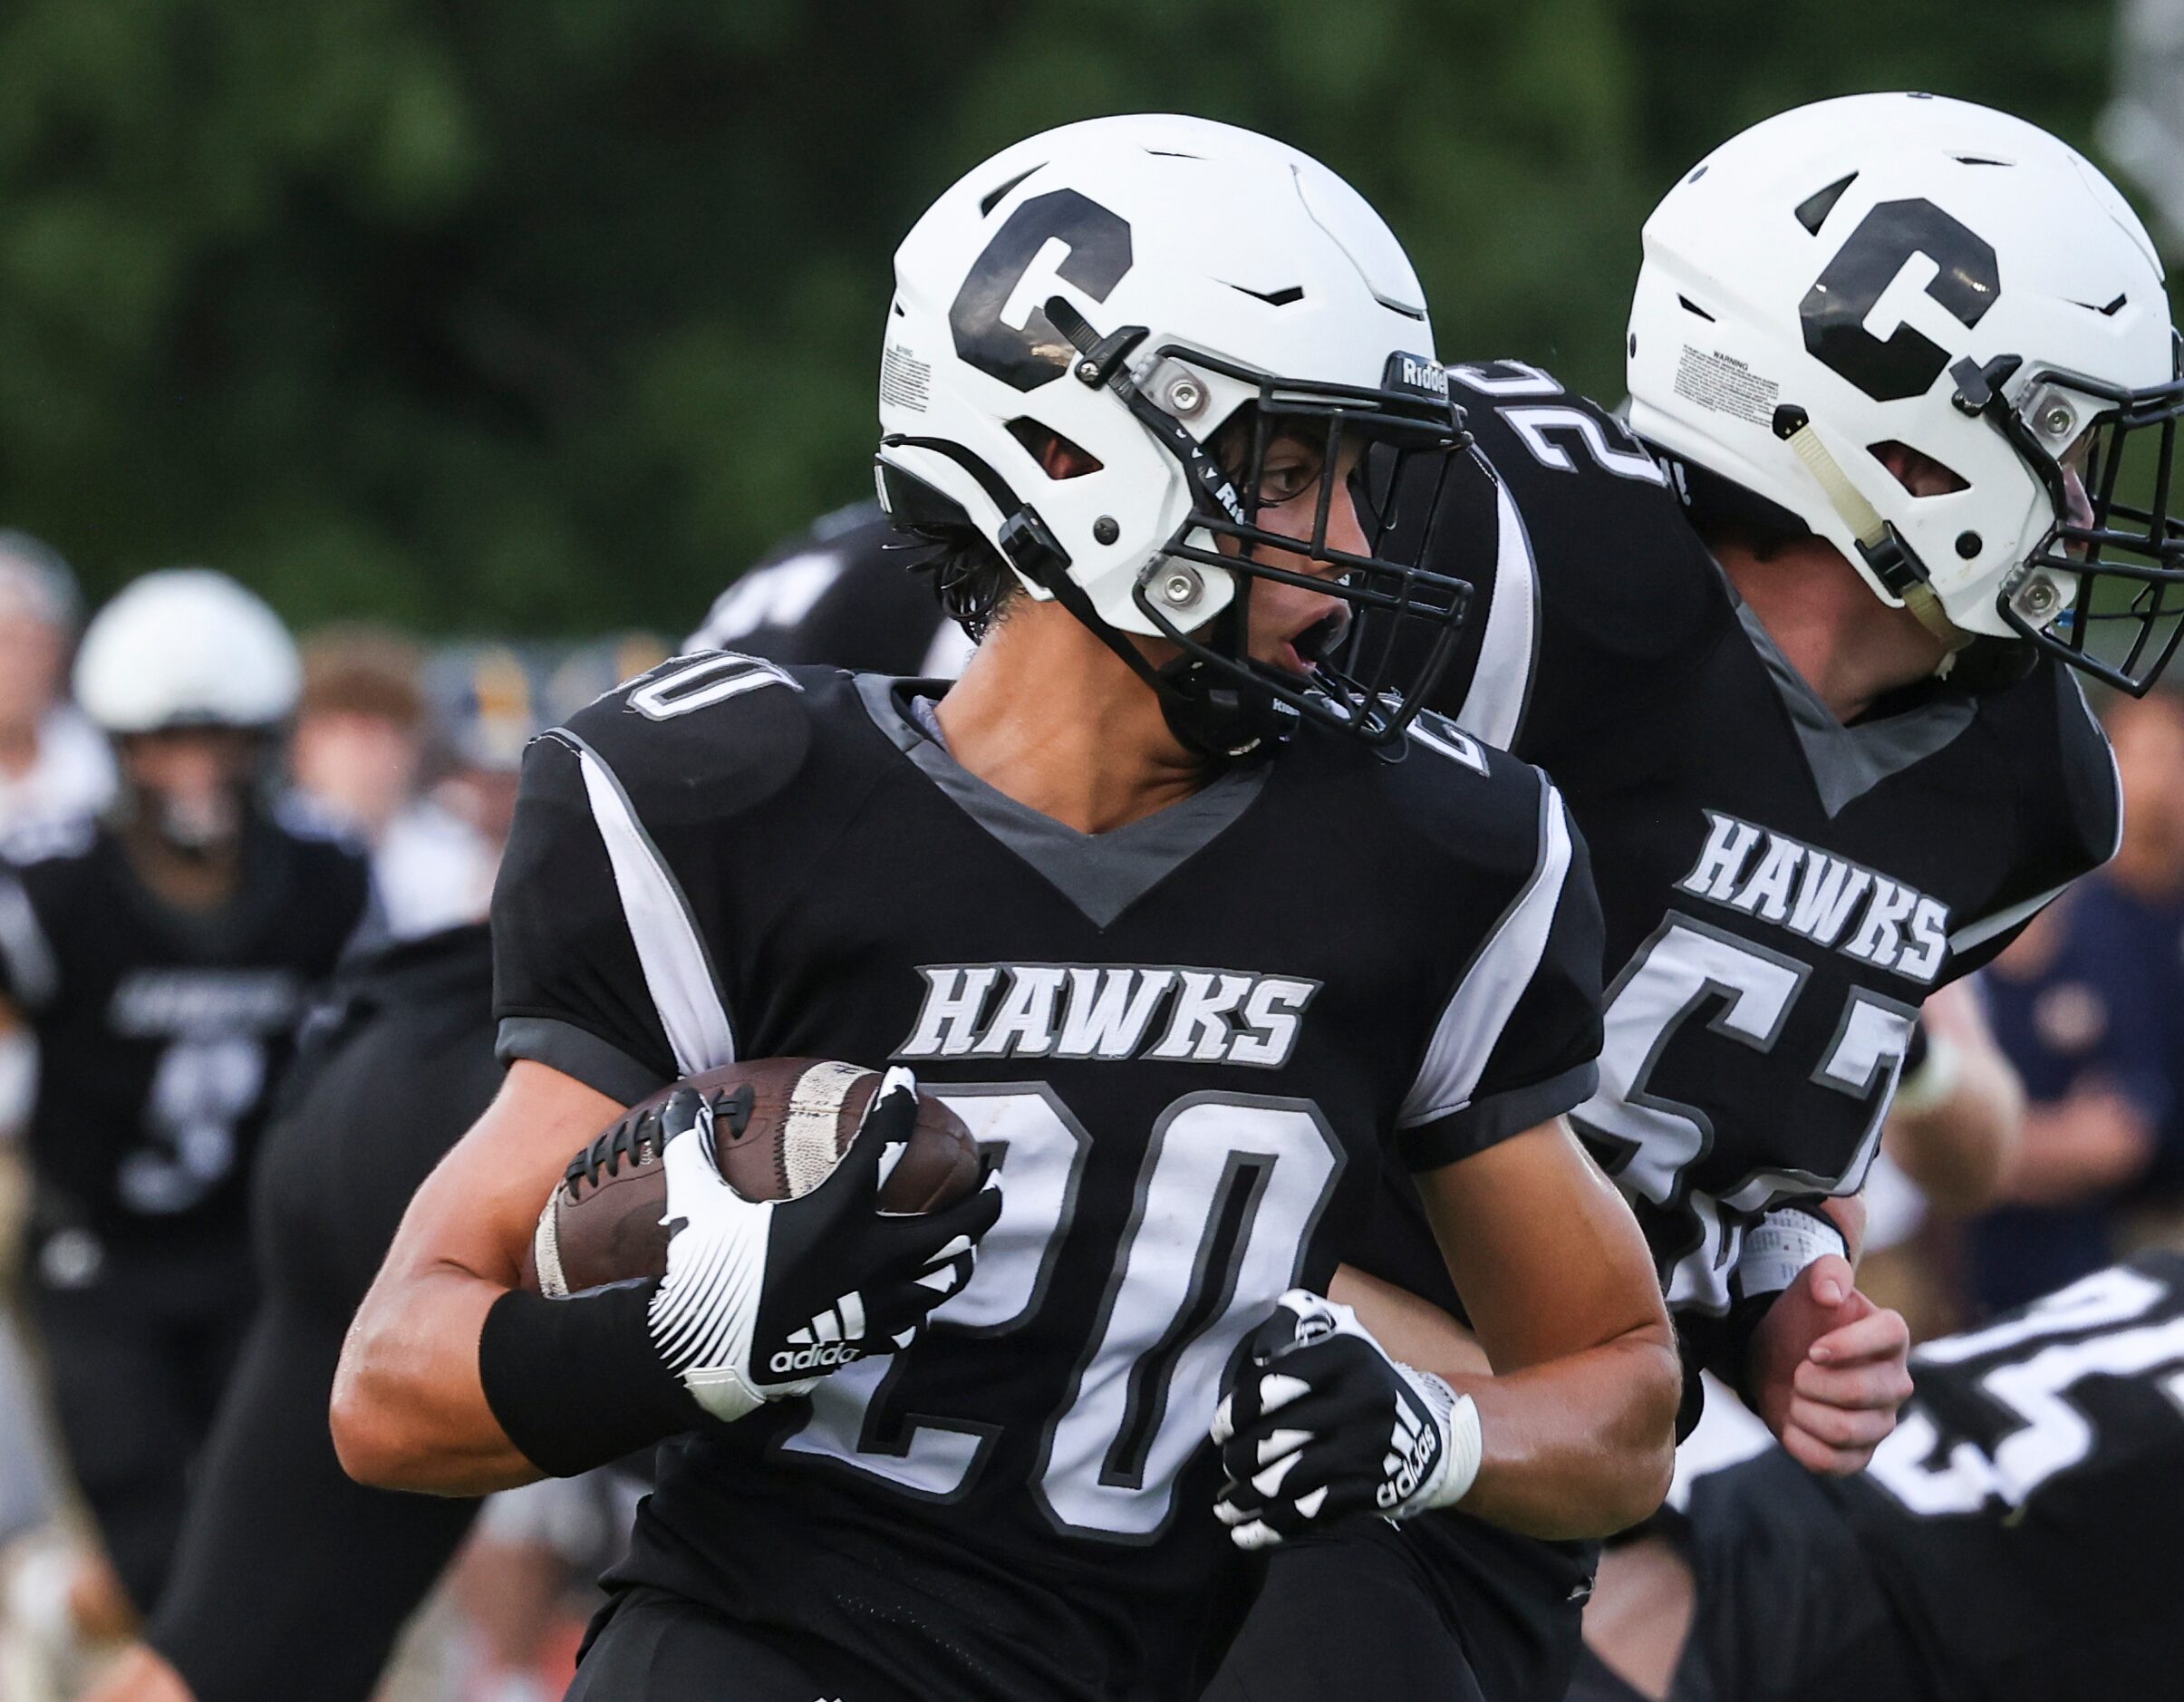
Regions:
[[[1666,1335],[1638,1221],[1559,1116],[1420,1175],[1417,1189],[1496,1372],[1634,1331]]]

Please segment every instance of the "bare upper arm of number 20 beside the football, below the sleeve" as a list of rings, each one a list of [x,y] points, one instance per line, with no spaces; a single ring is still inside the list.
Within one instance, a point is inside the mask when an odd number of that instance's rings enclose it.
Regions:
[[[384,1276],[437,1267],[515,1287],[539,1208],[570,1156],[622,1110],[618,1099],[544,1064],[513,1064],[494,1103],[417,1189]]]

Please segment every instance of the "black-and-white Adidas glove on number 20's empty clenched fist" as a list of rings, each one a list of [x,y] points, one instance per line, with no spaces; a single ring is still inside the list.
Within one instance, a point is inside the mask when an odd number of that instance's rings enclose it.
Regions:
[[[1212,1425],[1214,1516],[1241,1549],[1354,1514],[1411,1518],[1479,1475],[1479,1409],[1374,1341],[1350,1307],[1291,1289],[1245,1337]]]

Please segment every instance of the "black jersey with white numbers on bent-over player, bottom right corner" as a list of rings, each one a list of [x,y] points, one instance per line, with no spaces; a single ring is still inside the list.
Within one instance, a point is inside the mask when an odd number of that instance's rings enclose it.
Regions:
[[[1679,1702],[2156,1702],[2184,1671],[2184,1256],[1911,1355],[1859,1477],[1693,1484]]]

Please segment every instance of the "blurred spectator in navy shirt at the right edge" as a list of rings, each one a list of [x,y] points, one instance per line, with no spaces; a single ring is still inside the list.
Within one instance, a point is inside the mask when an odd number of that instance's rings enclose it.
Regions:
[[[2042,913],[1987,981],[2029,1110],[2009,1202],[1970,1226],[1968,1285],[2018,1307],[2114,1256],[2116,1202],[2147,1178],[2184,1075],[2184,699],[2118,699],[2116,859]]]

